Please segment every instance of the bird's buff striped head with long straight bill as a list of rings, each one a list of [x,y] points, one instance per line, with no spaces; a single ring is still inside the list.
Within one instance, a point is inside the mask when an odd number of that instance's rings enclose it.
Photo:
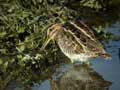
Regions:
[[[52,26],[50,26],[50,28],[48,28],[47,38],[46,38],[43,46],[41,47],[41,50],[43,50],[47,46],[47,44],[50,42],[50,40],[53,40],[56,37],[59,30],[61,30],[61,29],[62,29],[61,24],[53,24]]]

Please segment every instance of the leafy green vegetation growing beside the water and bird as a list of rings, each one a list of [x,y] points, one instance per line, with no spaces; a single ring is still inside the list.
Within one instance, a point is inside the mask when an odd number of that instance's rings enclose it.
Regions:
[[[14,80],[30,84],[39,78],[32,76],[33,71],[42,75],[48,71],[46,67],[60,62],[54,41],[40,51],[51,24],[85,18],[88,10],[98,14],[109,5],[109,0],[0,0],[0,90]],[[93,23],[93,27],[100,40],[112,38],[98,28],[101,25]]]

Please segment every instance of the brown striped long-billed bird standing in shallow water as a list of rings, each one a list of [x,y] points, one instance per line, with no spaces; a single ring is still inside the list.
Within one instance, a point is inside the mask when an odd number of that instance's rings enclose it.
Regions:
[[[60,50],[72,63],[75,61],[89,63],[96,57],[111,59],[110,54],[95,37],[93,30],[81,20],[52,24],[41,50],[44,50],[51,40],[56,41]]]

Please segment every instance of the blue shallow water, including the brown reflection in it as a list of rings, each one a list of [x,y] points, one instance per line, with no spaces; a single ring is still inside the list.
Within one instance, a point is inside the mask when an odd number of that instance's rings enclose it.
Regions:
[[[120,36],[120,22],[105,27]],[[120,40],[106,45],[111,60],[96,58],[91,66],[61,64],[49,79],[35,84],[33,90],[120,90]]]

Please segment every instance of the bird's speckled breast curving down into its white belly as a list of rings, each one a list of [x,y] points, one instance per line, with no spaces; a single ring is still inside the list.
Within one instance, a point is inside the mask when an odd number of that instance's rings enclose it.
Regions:
[[[61,51],[68,57],[72,62],[74,61],[81,61],[87,62],[90,59],[90,56],[86,53],[76,53],[74,51],[74,45],[72,46],[72,39],[59,34],[56,38],[57,44]],[[69,46],[69,44],[71,46]]]

